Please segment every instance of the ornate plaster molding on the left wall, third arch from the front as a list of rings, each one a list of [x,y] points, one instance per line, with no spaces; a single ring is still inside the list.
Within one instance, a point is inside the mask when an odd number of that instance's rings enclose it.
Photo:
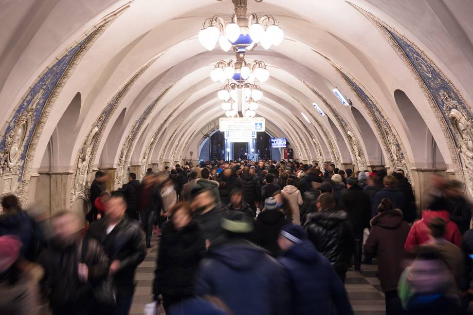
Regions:
[[[124,182],[126,182],[126,171],[128,170],[128,165],[130,164],[132,149],[135,145],[135,141],[138,138],[139,133],[144,122],[148,119],[150,114],[153,112],[153,109],[159,103],[159,101],[168,94],[169,90],[174,86],[175,83],[171,84],[166,88],[147,108],[143,111],[141,116],[135,121],[132,125],[128,136],[126,136],[125,141],[122,144],[120,155],[117,161],[117,171],[115,173],[115,189],[118,189]]]

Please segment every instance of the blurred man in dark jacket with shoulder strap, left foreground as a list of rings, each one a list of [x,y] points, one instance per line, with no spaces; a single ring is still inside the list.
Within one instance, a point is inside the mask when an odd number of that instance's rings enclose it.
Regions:
[[[94,287],[106,278],[108,258],[95,239],[82,240],[81,218],[71,211],[51,217],[51,239],[38,263],[44,268],[41,282],[53,315],[94,314],[101,310]],[[110,310],[108,310],[110,311]]]

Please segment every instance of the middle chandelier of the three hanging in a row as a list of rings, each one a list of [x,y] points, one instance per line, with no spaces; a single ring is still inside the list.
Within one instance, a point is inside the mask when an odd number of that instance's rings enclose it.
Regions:
[[[269,71],[263,61],[254,60],[247,63],[243,53],[237,53],[237,61],[230,59],[228,62],[221,60],[215,64],[210,71],[210,78],[213,82],[224,83],[227,80],[243,83],[245,81],[253,83],[254,80],[266,82],[269,78]]]

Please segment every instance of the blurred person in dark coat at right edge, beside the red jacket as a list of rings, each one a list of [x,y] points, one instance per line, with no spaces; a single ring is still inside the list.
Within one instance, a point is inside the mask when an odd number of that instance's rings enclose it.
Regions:
[[[448,212],[450,220],[458,225],[463,235],[470,228],[471,203],[463,195],[463,184],[459,180],[452,180],[447,188]]]

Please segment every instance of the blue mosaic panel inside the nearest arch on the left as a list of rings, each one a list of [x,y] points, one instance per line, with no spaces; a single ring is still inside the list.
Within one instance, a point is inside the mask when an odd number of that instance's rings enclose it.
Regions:
[[[90,34],[92,36],[94,33]],[[24,150],[21,158],[19,159],[19,163],[21,163],[21,173],[19,176],[18,181],[21,181],[23,177],[24,165],[25,165],[25,156],[28,149],[28,146],[31,141],[31,137],[33,136],[34,129],[38,125],[41,113],[46,105],[48,98],[50,97],[51,93],[56,88],[56,85],[61,80],[64,72],[67,70],[70,62],[74,59],[76,53],[81,49],[81,47],[87,42],[88,37],[82,40],[79,44],[75,47],[71,48],[63,57],[58,60],[54,65],[52,65],[41,78],[39,78],[31,89],[28,91],[27,95],[20,103],[20,105],[16,108],[15,113],[10,119],[10,122],[6,128],[5,134],[0,142],[0,151],[5,150],[5,142],[7,139],[7,135],[16,127],[17,120],[20,116],[26,114],[31,106],[33,113],[33,120],[32,120],[32,127],[29,128],[29,133],[26,135],[26,141],[24,144]],[[38,99],[34,102],[35,98]]]

